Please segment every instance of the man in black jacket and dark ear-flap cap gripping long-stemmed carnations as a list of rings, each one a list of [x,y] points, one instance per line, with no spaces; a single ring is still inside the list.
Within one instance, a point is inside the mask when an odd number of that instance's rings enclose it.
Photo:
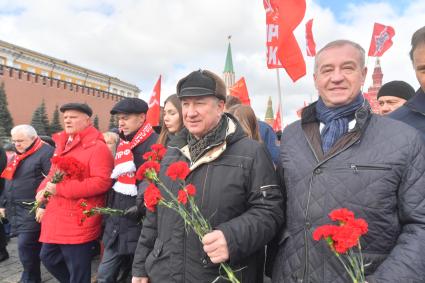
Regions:
[[[171,209],[147,211],[133,283],[227,282],[219,278],[223,262],[241,282],[263,282],[265,245],[283,222],[270,155],[224,113],[226,87],[216,74],[190,73],[177,84],[177,96],[185,128],[170,141],[159,178],[175,188],[165,171],[173,162],[186,162],[191,171],[186,182],[195,185],[196,204],[214,230],[201,242]]]

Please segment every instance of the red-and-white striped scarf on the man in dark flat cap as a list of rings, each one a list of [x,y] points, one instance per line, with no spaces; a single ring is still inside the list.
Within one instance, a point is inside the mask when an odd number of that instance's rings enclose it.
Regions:
[[[124,195],[137,195],[136,176],[134,174],[136,165],[131,150],[143,143],[152,133],[152,126],[145,123],[131,141],[120,140],[117,153],[115,153],[114,170],[111,174],[112,179],[117,179],[113,186],[114,191]]]

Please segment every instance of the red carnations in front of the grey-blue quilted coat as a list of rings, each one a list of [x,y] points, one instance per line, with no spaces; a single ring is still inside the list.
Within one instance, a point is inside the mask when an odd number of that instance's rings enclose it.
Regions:
[[[367,233],[367,222],[354,218],[354,213],[346,208],[339,208],[329,213],[332,221],[339,225],[322,225],[313,232],[313,239],[325,239],[330,249],[342,263],[353,283],[364,283],[364,263],[361,252],[360,237]]]

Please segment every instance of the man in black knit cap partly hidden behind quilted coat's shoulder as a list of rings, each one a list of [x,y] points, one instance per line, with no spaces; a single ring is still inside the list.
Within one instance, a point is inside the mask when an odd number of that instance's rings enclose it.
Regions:
[[[411,85],[403,81],[391,81],[378,91],[379,114],[387,115],[403,106],[407,100],[415,95]]]

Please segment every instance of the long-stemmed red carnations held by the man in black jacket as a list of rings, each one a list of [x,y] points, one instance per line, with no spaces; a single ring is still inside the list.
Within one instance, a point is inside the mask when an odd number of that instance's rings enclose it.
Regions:
[[[201,241],[207,233],[212,231],[212,227],[195,203],[196,187],[193,184],[186,184],[185,182],[187,175],[190,173],[189,166],[184,161],[177,161],[170,164],[165,172],[167,177],[178,182],[180,185],[176,196],[158,178],[160,170],[159,162],[165,155],[165,148],[160,144],[154,144],[151,148],[152,152],[143,155],[146,162],[136,172],[136,178],[138,180],[145,179],[149,182],[144,193],[146,208],[150,211],[155,211],[157,205],[162,205],[176,211],[183,218],[185,226],[192,228]],[[162,196],[158,186],[167,194],[168,199]],[[221,263],[220,268],[226,272],[226,275],[220,275],[215,281],[222,277],[229,282],[239,283],[239,280],[227,263]]]

